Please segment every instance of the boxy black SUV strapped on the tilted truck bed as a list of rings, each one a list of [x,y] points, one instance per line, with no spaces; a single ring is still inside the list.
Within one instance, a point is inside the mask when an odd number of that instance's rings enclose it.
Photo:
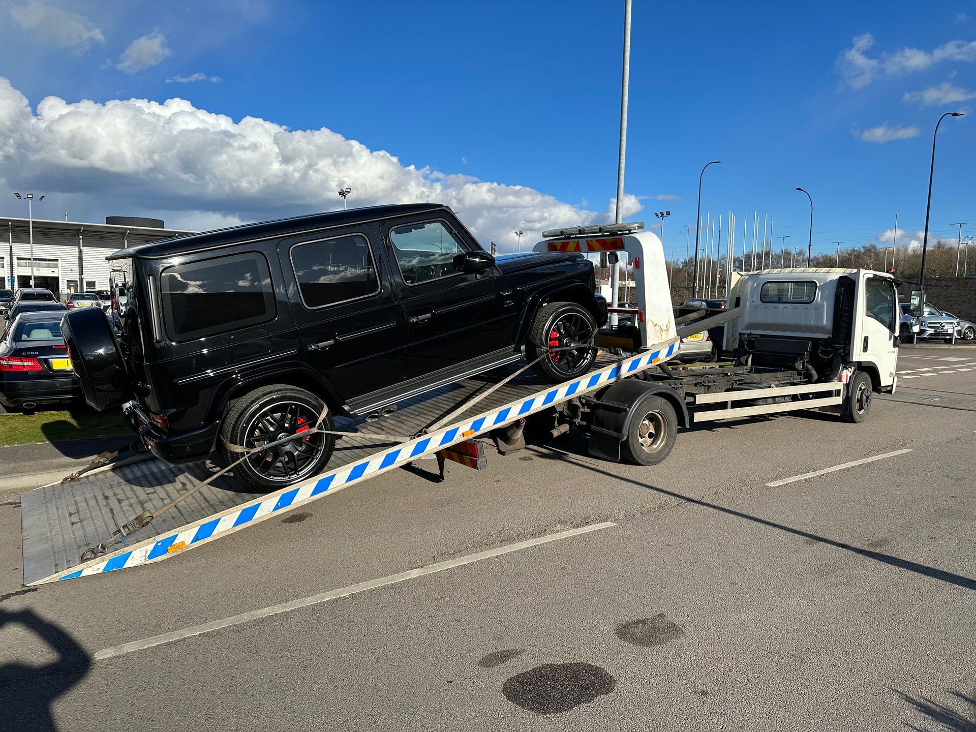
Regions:
[[[496,260],[446,206],[409,204],[235,226],[120,250],[117,312],[78,309],[63,333],[89,404],[125,412],[170,463],[251,448],[328,414],[397,401],[547,346],[553,383],[589,370],[606,302],[581,254]],[[111,320],[109,320],[109,317]],[[316,474],[314,433],[236,471],[262,489]]]

